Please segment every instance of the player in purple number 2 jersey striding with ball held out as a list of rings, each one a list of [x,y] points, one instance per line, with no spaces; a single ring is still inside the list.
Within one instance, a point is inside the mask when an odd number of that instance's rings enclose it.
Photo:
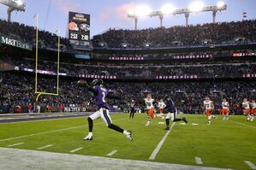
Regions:
[[[105,97],[110,98],[119,98],[115,97],[114,95],[110,95],[109,91],[103,87],[103,80],[102,79],[94,79],[91,83],[92,86],[88,85],[85,80],[79,80],[78,85],[80,86],[86,86],[86,88],[90,91],[90,93],[93,94],[95,97],[96,103],[98,105],[98,111],[94,114],[91,114],[88,117],[88,126],[89,126],[89,134],[86,136],[86,138],[83,138],[84,140],[92,140],[92,126],[93,126],[93,120],[96,120],[98,118],[101,118],[104,120],[106,126],[108,126],[110,129],[113,129],[117,132],[122,132],[127,138],[129,138],[131,141],[132,138],[132,132],[129,130],[123,130],[121,127],[116,126],[112,123],[112,120],[110,118],[110,108],[108,104],[105,101]]]

